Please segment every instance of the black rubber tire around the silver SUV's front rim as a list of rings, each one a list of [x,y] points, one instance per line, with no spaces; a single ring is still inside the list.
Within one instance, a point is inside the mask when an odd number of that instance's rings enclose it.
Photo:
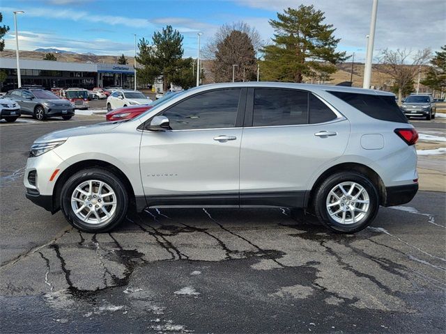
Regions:
[[[72,209],[71,196],[73,191],[75,191],[76,187],[82,184],[82,182],[88,180],[105,182],[116,194],[116,209],[112,218],[105,223],[86,223],[82,221]],[[60,202],[63,215],[66,217],[67,221],[75,228],[91,233],[107,232],[115,228],[116,225],[125,219],[129,205],[128,192],[125,189],[124,184],[119,180],[119,177],[109,170],[100,168],[84,169],[72,175],[65,184],[63,184]]]

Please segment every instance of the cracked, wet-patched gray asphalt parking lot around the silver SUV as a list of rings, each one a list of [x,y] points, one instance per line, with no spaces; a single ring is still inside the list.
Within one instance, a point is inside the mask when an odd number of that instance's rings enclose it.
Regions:
[[[354,235],[284,208],[150,209],[87,234],[22,177],[38,136],[103,119],[0,124],[2,333],[445,333],[444,157],[422,162],[442,191],[426,182]]]

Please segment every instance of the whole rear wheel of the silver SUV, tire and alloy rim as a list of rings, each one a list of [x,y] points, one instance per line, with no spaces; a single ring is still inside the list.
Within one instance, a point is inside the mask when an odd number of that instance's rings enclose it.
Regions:
[[[319,186],[314,207],[319,221],[330,230],[341,233],[359,232],[378,213],[378,191],[360,173],[336,173]]]

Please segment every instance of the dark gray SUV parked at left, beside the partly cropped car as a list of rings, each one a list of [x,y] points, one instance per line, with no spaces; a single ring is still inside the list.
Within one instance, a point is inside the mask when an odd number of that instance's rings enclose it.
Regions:
[[[68,100],[45,89],[19,88],[10,90],[6,97],[15,100],[22,109],[22,115],[31,115],[38,120],[49,117],[62,117],[69,120],[75,115],[75,109]]]

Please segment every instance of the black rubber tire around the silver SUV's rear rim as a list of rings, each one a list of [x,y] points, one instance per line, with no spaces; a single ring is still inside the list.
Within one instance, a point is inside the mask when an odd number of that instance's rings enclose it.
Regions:
[[[328,213],[327,200],[330,191],[334,189],[335,186],[341,184],[342,182],[355,182],[362,186],[362,188],[367,191],[369,196],[369,208],[367,213],[364,214],[359,221],[348,224],[342,224],[334,220],[332,216]],[[348,198],[347,198],[348,200]],[[351,205],[351,204],[350,204]],[[343,205],[344,206],[344,205]],[[348,207],[348,205],[346,205]],[[378,191],[374,184],[364,175],[356,172],[341,172],[336,173],[328,177],[321,186],[318,187],[316,191],[316,196],[314,196],[314,208],[318,220],[321,221],[325,227],[340,233],[355,233],[367,228],[367,226],[374,220],[376,214],[378,214],[379,209],[379,196]]]

